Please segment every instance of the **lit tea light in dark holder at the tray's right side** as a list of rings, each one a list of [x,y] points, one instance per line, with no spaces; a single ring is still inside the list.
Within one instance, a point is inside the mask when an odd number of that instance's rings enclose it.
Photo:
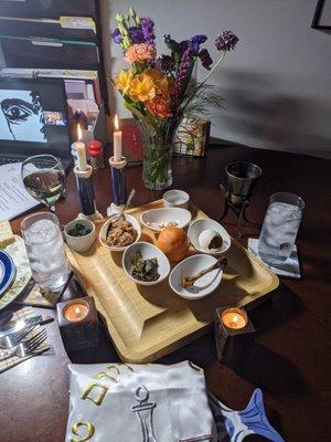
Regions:
[[[242,364],[249,357],[254,337],[254,325],[243,308],[216,309],[215,339],[220,361],[233,367]]]

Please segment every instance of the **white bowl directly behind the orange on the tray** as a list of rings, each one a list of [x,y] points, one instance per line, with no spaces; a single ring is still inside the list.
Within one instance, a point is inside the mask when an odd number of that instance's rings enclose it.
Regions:
[[[186,209],[181,208],[167,208],[167,209],[151,209],[141,213],[140,221],[141,223],[150,230],[154,232],[160,232],[163,228],[158,229],[148,223],[168,223],[168,222],[177,222],[174,227],[184,228],[189,224],[192,219],[191,212]]]

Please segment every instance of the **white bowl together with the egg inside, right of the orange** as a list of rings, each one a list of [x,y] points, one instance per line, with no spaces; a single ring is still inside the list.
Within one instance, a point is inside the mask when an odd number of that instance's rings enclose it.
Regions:
[[[193,221],[189,228],[188,235],[193,248],[197,250],[197,252],[221,255],[231,246],[229,234],[217,221],[214,220],[201,219]],[[209,248],[207,244],[213,241],[213,236],[216,236],[216,245],[221,239],[220,242],[222,242],[222,244],[218,248]]]

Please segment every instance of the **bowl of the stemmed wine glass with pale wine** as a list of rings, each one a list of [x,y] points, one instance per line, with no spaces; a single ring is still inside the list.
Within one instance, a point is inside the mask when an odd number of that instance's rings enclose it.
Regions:
[[[55,212],[55,203],[65,188],[65,172],[53,155],[35,155],[22,162],[21,177],[28,192]]]

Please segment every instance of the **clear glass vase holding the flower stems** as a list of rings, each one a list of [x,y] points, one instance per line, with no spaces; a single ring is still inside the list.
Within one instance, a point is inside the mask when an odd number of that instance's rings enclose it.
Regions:
[[[177,125],[156,127],[139,120],[142,138],[142,181],[147,189],[162,190],[172,185],[172,145]]]

